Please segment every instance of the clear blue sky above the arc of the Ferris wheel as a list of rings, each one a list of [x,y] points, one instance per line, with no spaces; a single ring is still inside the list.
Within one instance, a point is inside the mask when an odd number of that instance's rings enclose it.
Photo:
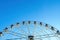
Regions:
[[[36,20],[60,29],[59,0],[0,0],[0,31],[23,20]]]

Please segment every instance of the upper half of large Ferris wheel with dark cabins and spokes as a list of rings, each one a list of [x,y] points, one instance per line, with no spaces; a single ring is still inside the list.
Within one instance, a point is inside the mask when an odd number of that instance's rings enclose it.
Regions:
[[[0,40],[60,40],[60,31],[43,22],[22,21],[4,28]]]

